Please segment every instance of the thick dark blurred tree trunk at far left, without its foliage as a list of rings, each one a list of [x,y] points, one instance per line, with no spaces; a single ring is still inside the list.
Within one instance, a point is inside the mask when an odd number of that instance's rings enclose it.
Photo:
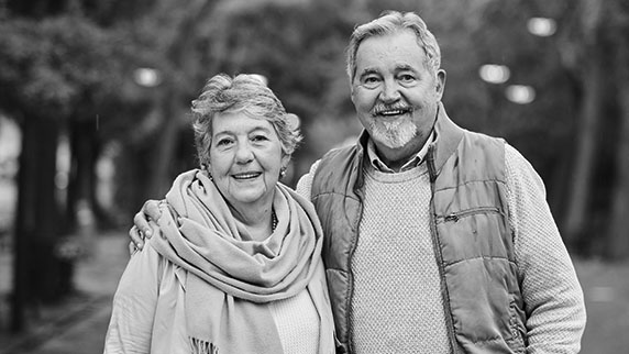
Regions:
[[[26,308],[58,298],[62,264],[55,198],[57,123],[29,117],[22,124],[22,151],[14,233],[12,329],[26,327]]]

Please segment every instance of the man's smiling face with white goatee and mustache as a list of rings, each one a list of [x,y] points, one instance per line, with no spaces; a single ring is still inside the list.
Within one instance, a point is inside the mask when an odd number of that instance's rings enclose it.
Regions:
[[[356,52],[352,102],[379,152],[406,158],[434,123],[445,71],[432,73],[411,30],[364,40]]]

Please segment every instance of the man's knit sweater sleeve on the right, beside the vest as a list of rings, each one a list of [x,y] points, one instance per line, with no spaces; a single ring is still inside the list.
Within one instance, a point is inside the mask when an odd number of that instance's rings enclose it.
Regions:
[[[527,312],[527,353],[578,353],[583,290],[533,167],[506,145],[509,220]]]

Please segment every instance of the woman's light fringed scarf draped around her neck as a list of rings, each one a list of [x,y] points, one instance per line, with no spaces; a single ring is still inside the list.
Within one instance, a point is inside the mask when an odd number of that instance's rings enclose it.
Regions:
[[[188,272],[186,322],[192,353],[283,353],[266,302],[307,289],[321,320],[320,352],[332,323],[320,253],[322,231],[313,207],[277,184],[278,222],[252,241],[214,184],[200,170],[177,177],[157,220],[159,254]],[[314,276],[317,274],[317,276]]]

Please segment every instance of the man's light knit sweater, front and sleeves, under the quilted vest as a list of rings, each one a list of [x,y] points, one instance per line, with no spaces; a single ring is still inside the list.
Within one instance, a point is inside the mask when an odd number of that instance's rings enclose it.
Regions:
[[[509,145],[505,159],[528,318],[527,353],[577,353],[585,323],[583,292],[545,202],[543,182]],[[299,181],[299,193],[310,196],[317,166]],[[431,191],[424,164],[399,174],[366,169],[352,258],[351,335],[356,353],[450,353],[430,241]]]

